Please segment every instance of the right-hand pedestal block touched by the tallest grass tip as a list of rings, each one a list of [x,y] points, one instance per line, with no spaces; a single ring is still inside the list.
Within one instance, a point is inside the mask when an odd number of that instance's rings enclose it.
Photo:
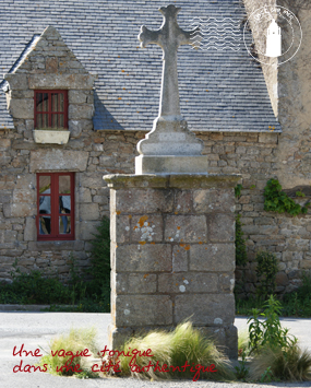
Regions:
[[[232,294],[188,294],[175,298],[175,322],[191,317],[195,326],[228,326],[235,320]]]

